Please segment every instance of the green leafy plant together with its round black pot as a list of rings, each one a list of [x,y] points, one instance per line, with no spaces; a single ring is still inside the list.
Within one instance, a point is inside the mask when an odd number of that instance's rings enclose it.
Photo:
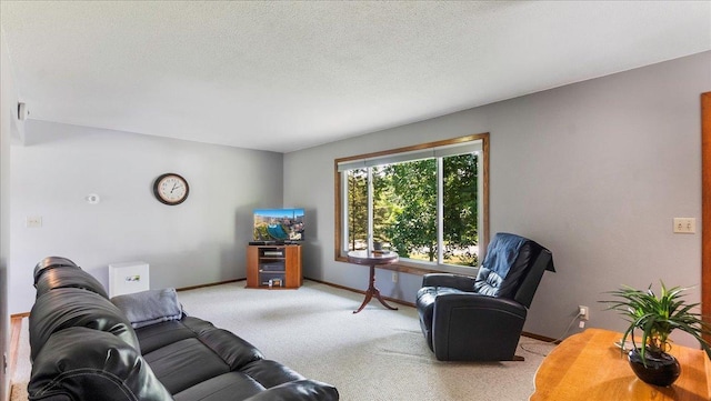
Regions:
[[[608,310],[617,310],[630,322],[622,335],[622,344],[628,337],[632,339],[629,360],[637,377],[647,383],[667,387],[681,373],[677,359],[667,353],[671,349],[669,334],[674,330],[691,334],[711,359],[711,345],[703,339],[703,334],[711,334],[711,325],[694,312],[699,303],[683,300],[685,288],[668,289],[661,282],[659,297],[651,288],[650,284],[647,291],[641,291],[622,285],[617,291],[608,292],[615,300],[602,302],[610,304]],[[635,330],[642,332],[640,347],[634,341]]]

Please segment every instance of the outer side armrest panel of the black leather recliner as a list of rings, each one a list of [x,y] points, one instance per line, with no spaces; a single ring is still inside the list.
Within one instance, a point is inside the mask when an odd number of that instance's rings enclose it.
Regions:
[[[432,315],[434,355],[442,361],[513,360],[525,315],[527,309],[515,301],[475,293],[441,294]]]

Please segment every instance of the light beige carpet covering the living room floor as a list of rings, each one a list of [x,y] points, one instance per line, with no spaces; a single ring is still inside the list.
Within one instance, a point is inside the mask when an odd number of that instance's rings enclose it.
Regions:
[[[535,371],[553,348],[522,338],[518,354],[524,362],[440,362],[424,342],[414,308],[390,311],[375,300],[353,314],[362,294],[308,280],[299,290],[248,290],[237,282],[178,297],[189,314],[234,332],[308,378],[334,384],[344,401],[528,400]],[[23,323],[20,340],[27,349],[27,319]],[[29,365],[29,350],[21,352]],[[13,378],[12,400],[27,399],[29,369],[18,369]]]

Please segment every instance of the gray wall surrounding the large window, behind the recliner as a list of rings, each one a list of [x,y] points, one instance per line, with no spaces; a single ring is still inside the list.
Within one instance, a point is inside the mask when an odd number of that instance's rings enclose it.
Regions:
[[[709,90],[705,52],[288,153],[284,201],[316,219],[304,274],[368,284],[367,269],[333,259],[334,159],[490,132],[491,233],[539,241],[558,269],[543,277],[524,330],[558,338],[579,304],[591,308],[589,327],[619,330],[622,319],[598,303],[603,292],[701,282],[700,93]],[[698,233],[673,234],[674,217],[695,218]],[[413,302],[421,277],[393,284],[380,271],[377,281]]]

